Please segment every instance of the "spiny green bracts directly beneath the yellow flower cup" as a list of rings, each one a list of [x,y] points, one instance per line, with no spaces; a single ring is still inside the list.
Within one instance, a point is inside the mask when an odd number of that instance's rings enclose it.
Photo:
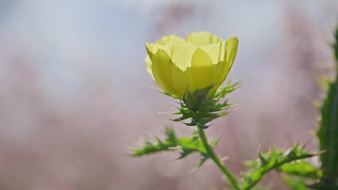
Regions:
[[[240,87],[239,82],[231,84],[229,81],[225,86],[218,88],[218,90],[207,97],[213,85],[203,89],[197,89],[193,93],[186,92],[180,102],[181,108],[179,113],[181,117],[173,119],[173,121],[182,121],[191,118],[191,122],[184,123],[188,126],[198,126],[206,129],[210,125],[206,125],[211,120],[226,115],[224,110],[232,106],[227,101],[222,101],[223,98],[230,92]],[[176,114],[176,113],[174,113]]]

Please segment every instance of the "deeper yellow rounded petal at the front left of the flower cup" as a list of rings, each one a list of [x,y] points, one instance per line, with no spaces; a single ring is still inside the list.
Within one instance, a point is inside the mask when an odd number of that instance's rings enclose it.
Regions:
[[[172,85],[172,63],[168,53],[160,49],[152,58],[152,73],[156,83],[166,92],[181,96]]]

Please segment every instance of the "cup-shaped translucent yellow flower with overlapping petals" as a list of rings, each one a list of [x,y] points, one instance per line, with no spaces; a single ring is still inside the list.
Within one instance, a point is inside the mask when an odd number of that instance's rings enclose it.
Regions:
[[[147,71],[167,93],[182,97],[188,90],[214,85],[214,93],[224,82],[235,60],[238,38],[226,41],[208,32],[191,33],[187,39],[165,36],[146,43]]]

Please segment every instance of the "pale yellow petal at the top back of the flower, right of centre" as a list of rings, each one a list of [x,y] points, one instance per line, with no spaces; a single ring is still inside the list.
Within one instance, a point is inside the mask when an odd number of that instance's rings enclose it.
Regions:
[[[209,33],[209,32],[197,32],[191,33],[187,36],[187,42],[194,45],[206,45],[211,43],[221,42],[222,39]]]

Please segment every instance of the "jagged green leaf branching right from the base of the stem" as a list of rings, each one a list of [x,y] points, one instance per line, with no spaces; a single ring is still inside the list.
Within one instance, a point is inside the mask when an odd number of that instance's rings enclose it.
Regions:
[[[304,152],[303,147],[294,146],[289,151],[278,151],[273,149],[267,153],[259,152],[259,160],[253,161],[251,165],[253,168],[249,173],[242,173],[244,178],[244,183],[242,185],[242,190],[250,190],[255,186],[264,174],[268,173],[273,169],[283,170],[281,167],[295,160],[304,159],[318,155],[318,153]],[[295,172],[297,169],[287,168],[289,171]],[[299,172],[299,171],[298,171]]]

